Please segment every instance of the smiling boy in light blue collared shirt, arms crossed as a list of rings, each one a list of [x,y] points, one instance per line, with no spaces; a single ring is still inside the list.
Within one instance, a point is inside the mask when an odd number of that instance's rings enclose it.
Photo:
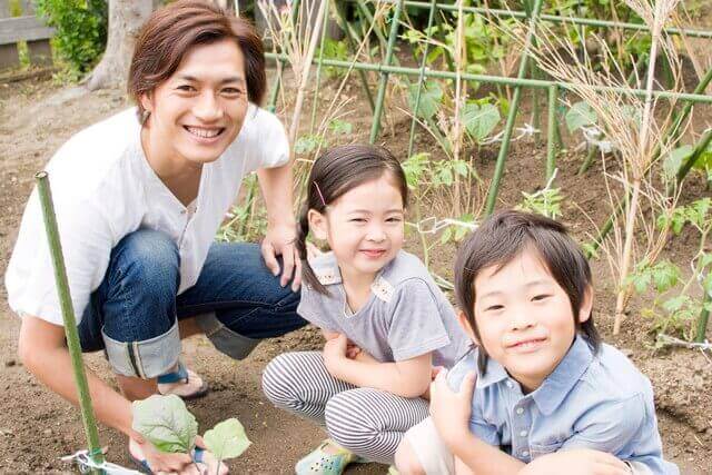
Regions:
[[[650,382],[601,343],[591,269],[564,226],[487,219],[458,251],[455,291],[479,346],[433,383],[432,418],[398,448],[402,473],[678,473]]]

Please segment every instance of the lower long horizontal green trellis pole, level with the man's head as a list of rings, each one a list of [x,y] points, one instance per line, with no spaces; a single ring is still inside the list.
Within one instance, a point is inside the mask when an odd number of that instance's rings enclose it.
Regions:
[[[283,59],[283,58],[286,58],[286,55],[268,52],[268,53],[265,53],[265,58]],[[317,62],[317,61],[319,61],[319,59],[314,58],[314,62]],[[372,65],[367,62],[339,61],[335,59],[324,59],[322,60],[322,62],[324,63],[324,66],[333,66],[337,68],[362,69],[365,71],[386,72],[386,73],[394,73],[394,75],[402,75],[402,76],[419,76],[421,73],[421,68],[408,68],[404,66]],[[455,79],[457,75],[452,71],[426,70],[424,76],[426,78]],[[513,86],[513,87],[548,89],[550,86],[556,85],[561,89],[572,90],[575,92],[574,88],[570,83],[566,83],[563,81],[551,81],[545,79],[508,78],[508,77],[502,77],[502,76],[475,75],[472,72],[462,72],[459,76],[461,76],[461,79],[464,81],[486,82],[486,83],[505,85],[505,86]],[[591,89],[595,91],[609,91],[609,92],[617,92],[621,95],[645,97],[645,90],[643,89],[630,89],[630,88],[614,87],[614,86],[592,86]],[[703,93],[671,92],[671,91],[663,91],[663,90],[654,90],[653,97],[663,98],[663,99],[679,99],[679,100],[702,102],[702,103],[712,103],[712,95],[706,96]]]

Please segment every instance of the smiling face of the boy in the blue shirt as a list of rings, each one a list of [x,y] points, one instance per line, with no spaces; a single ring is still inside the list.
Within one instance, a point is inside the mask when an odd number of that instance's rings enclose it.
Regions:
[[[568,296],[531,247],[502,268],[484,268],[474,289],[479,344],[526,390],[536,389],[573,343]],[[590,317],[592,300],[587,290],[580,321]]]

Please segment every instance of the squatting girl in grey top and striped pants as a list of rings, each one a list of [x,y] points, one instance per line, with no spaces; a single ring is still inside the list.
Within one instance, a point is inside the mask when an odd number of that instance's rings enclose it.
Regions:
[[[386,149],[337,147],[312,169],[297,247],[297,313],[322,328],[324,352],[269,363],[265,394],[277,407],[326,424],[330,439],[298,474],[338,474],[357,459],[393,463],[405,432],[427,416],[433,366],[468,345],[454,310],[415,256],[403,251],[408,188]],[[306,237],[330,253],[306,260]]]

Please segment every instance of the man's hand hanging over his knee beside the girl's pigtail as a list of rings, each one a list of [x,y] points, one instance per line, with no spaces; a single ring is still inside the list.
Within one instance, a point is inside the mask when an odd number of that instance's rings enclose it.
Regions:
[[[275,276],[279,275],[277,256],[281,256],[284,269],[279,284],[286,286],[291,277],[291,290],[297,291],[301,285],[301,260],[295,246],[296,229],[289,225],[274,225],[267,227],[267,234],[261,243],[265,265]]]

